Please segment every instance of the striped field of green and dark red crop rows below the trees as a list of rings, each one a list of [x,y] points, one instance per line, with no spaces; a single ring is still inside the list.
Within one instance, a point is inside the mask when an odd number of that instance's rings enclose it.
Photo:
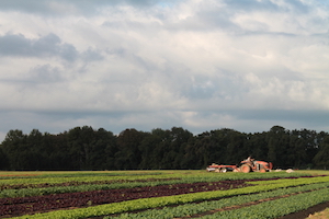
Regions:
[[[0,172],[0,218],[260,219],[325,203],[328,171]]]

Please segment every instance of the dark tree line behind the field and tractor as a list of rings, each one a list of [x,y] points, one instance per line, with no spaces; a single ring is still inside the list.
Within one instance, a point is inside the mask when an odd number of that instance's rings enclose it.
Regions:
[[[254,134],[222,128],[200,135],[182,127],[132,128],[120,135],[90,126],[57,135],[15,129],[0,145],[0,170],[200,170],[212,163],[238,164],[249,155],[274,168],[326,169],[329,135],[281,126]]]

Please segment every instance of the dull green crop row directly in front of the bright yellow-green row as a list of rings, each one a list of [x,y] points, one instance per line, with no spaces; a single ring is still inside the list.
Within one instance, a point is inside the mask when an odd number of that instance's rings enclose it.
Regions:
[[[231,198],[223,198],[220,200],[203,201],[198,204],[185,204],[177,207],[164,207],[162,209],[150,209],[137,214],[122,214],[117,217],[104,217],[104,219],[139,219],[139,218],[154,218],[154,219],[170,219],[178,217],[189,217],[196,214],[204,214],[206,211],[220,209],[234,205],[241,205],[250,201],[256,201],[265,198],[272,198],[294,193],[314,191],[326,188],[329,182],[320,184],[310,184],[298,187],[281,188],[272,192],[264,192],[253,195],[234,196]]]

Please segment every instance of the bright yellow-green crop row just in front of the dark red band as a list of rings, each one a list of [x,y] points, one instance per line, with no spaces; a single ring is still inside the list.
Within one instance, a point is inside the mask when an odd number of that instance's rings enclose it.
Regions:
[[[203,200],[222,198],[227,196],[252,194],[252,193],[290,187],[290,186],[299,186],[299,185],[325,183],[325,182],[329,182],[329,176],[303,178],[303,181],[291,181],[291,182],[280,183],[280,184],[256,185],[256,186],[236,188],[229,191],[202,192],[202,193],[191,193],[191,194],[174,195],[174,196],[167,196],[167,197],[141,198],[141,199],[127,200],[122,203],[91,206],[88,208],[57,210],[57,211],[52,211],[46,214],[36,214],[33,216],[23,216],[20,218],[31,218],[31,219],[87,218],[87,217],[94,217],[94,216],[102,216],[102,215],[122,214],[132,210],[143,210],[148,208],[164,207],[169,205],[181,205],[181,204],[188,204],[193,201],[203,201]]]

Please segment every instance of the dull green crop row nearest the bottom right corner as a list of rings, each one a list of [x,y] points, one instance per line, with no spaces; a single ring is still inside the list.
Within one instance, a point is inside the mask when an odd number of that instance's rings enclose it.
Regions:
[[[269,219],[277,218],[292,212],[307,209],[311,206],[329,201],[329,188],[315,191],[311,193],[298,194],[286,198],[280,198],[271,201],[261,203],[250,207],[236,210],[220,211],[211,216],[204,216],[204,219],[213,218],[248,218],[248,219]]]

